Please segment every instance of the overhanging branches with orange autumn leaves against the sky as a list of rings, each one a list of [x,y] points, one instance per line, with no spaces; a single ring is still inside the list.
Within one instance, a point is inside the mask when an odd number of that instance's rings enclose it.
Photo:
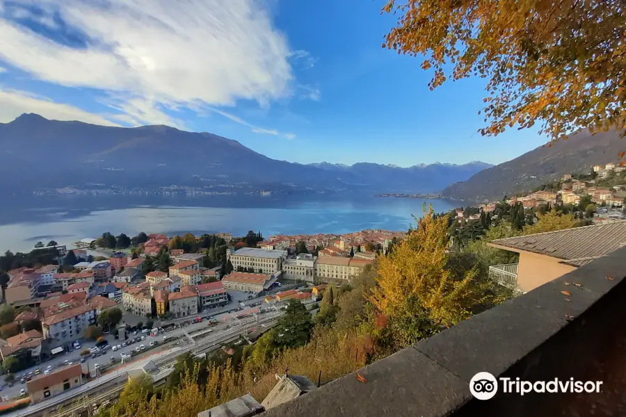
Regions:
[[[488,79],[483,135],[539,120],[552,140],[625,129],[623,0],[388,0],[383,13],[400,15],[383,47],[425,56],[431,90]]]

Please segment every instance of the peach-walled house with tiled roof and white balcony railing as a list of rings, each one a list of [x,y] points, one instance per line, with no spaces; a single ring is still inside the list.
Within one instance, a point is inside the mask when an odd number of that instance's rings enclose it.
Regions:
[[[520,262],[490,266],[490,276],[525,293],[626,245],[626,220],[492,240]]]

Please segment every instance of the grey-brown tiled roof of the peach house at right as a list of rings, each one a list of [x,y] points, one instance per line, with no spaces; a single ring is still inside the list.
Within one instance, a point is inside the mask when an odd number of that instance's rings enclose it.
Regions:
[[[626,245],[626,220],[492,240],[490,245],[563,259],[575,266]]]

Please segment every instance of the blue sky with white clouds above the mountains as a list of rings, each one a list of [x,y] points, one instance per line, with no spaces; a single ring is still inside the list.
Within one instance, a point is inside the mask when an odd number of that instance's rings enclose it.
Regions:
[[[0,122],[168,124],[299,163],[501,163],[536,130],[476,133],[484,81],[428,90],[381,48],[384,0],[0,0]]]

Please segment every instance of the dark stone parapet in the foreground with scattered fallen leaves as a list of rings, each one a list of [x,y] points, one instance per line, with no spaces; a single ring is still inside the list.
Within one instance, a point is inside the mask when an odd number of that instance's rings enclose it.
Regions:
[[[362,368],[367,384],[352,373],[263,415],[560,415],[570,394],[478,401],[468,382],[481,371],[530,381],[588,375],[616,329],[626,337],[625,275],[626,247]]]

